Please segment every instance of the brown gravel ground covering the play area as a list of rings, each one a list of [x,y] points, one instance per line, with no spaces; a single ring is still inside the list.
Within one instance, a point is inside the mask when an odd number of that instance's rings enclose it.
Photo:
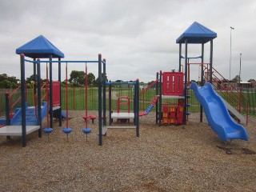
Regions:
[[[49,141],[34,132],[23,148],[21,138],[1,137],[0,191],[256,190],[256,118],[248,142],[222,142],[198,114],[183,129],[159,127],[151,113],[140,118],[139,138],[135,130],[108,130],[98,146],[98,120],[86,142],[83,114],[70,111],[69,139],[58,122]]]

